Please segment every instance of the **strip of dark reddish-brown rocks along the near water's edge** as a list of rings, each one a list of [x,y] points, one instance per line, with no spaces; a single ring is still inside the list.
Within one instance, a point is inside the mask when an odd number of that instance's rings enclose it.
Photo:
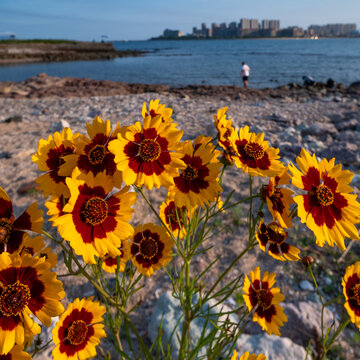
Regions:
[[[295,83],[276,88],[244,89],[231,85],[186,85],[170,86],[164,84],[125,83],[121,81],[93,80],[48,76],[45,73],[20,81],[0,82],[0,98],[36,99],[47,97],[91,97],[116,96],[143,93],[174,94],[181,97],[208,96],[228,97],[232,100],[250,100],[266,98],[317,99],[322,97],[360,98],[360,86],[345,87],[335,84],[327,87],[316,83],[307,87]]]

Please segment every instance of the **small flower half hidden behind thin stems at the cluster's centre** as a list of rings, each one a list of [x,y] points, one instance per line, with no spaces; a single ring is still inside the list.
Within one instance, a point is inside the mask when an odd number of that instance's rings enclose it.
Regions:
[[[173,236],[182,239],[186,235],[186,222],[189,221],[192,210],[186,206],[179,208],[173,199],[168,198],[160,205],[159,215]]]

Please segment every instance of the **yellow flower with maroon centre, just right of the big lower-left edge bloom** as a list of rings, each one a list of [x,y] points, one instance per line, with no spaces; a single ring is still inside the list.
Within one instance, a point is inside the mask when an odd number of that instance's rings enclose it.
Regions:
[[[96,346],[106,337],[103,315],[106,309],[99,302],[75,299],[61,315],[52,336],[54,360],[89,359],[96,356]]]

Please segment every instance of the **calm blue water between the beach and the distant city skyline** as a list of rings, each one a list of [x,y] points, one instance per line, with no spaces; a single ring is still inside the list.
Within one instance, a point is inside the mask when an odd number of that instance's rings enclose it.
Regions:
[[[117,49],[150,51],[144,57],[0,67],[0,81],[41,72],[130,83],[241,85],[241,62],[250,65],[250,86],[274,87],[329,77],[349,85],[360,80],[360,39],[198,40],[115,42]]]

